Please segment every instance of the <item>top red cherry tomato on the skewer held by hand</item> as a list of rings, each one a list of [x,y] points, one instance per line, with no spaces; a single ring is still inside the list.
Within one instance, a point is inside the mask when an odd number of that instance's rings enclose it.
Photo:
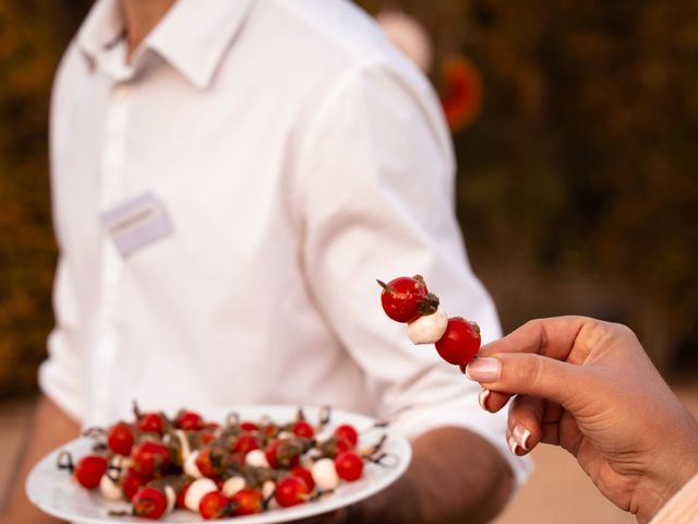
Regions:
[[[383,287],[383,310],[397,322],[411,322],[422,314],[435,312],[438,308],[438,298],[429,293],[424,279],[419,275],[399,276],[387,284],[378,281],[378,284]]]

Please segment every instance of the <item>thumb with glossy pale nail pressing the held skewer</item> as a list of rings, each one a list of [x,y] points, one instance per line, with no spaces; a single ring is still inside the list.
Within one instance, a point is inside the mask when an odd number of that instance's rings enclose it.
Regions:
[[[506,394],[539,396],[569,407],[592,393],[585,368],[531,353],[505,353],[476,358],[466,377]]]

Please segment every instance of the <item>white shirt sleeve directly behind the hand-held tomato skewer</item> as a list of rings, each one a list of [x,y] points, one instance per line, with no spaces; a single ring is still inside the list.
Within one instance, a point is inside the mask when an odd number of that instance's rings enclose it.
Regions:
[[[520,481],[528,461],[505,442],[504,414],[483,412],[480,392],[434,347],[413,346],[380,305],[376,278],[421,274],[447,313],[501,336],[497,314],[473,275],[454,209],[450,141],[421,76],[358,67],[317,103],[300,147],[302,263],[309,286],[351,358],[409,437],[467,428],[496,446]],[[407,408],[407,409],[406,409]]]

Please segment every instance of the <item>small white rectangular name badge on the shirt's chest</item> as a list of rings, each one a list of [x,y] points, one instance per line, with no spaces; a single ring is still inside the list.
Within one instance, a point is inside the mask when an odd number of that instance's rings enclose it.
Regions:
[[[167,209],[151,192],[131,199],[99,217],[122,257],[172,233]]]

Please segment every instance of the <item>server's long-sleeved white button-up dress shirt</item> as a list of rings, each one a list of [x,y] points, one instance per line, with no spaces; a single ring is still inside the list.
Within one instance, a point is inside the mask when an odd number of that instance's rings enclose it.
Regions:
[[[84,425],[144,409],[330,404],[396,430],[505,417],[413,346],[376,278],[422,274],[500,336],[454,214],[437,98],[344,0],[180,0],[125,60],[98,0],[51,111],[57,325],[40,385]],[[122,254],[100,218],[149,193],[171,234]]]

